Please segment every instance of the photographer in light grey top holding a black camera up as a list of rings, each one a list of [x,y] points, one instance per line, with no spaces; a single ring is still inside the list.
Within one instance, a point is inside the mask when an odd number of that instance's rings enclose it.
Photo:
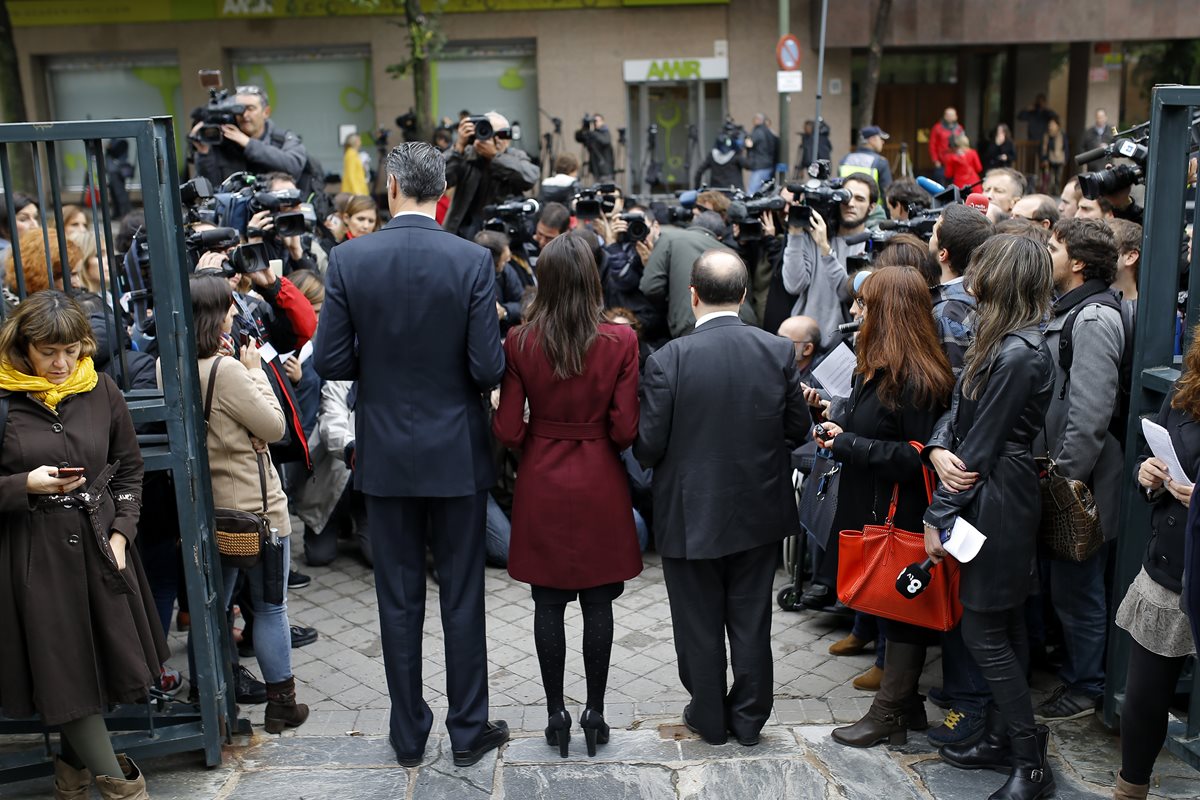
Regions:
[[[838,347],[842,335],[838,326],[846,321],[850,294],[846,288],[846,259],[865,251],[863,241],[850,239],[865,233],[866,216],[878,203],[880,190],[870,175],[856,173],[842,181],[841,188],[828,184],[828,162],[816,162],[809,168],[812,180],[803,186],[788,186],[781,192],[793,207],[787,221],[787,245],[784,248],[784,289],[796,295],[792,317],[811,317],[821,324],[821,341],[826,349]],[[824,178],[818,178],[823,175]],[[839,200],[827,206],[828,196]],[[821,205],[814,205],[821,200]],[[806,209],[806,213],[794,213]],[[826,211],[832,217],[827,219]],[[830,236],[830,228],[836,235]]]

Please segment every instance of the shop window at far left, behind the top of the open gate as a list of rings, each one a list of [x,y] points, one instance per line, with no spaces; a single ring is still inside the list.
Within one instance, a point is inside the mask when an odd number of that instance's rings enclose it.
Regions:
[[[182,158],[186,136],[184,94],[179,65],[174,56],[148,54],[136,59],[95,59],[89,56],[55,58],[47,64],[50,115],[55,120],[116,120],[149,116],[175,118],[176,155]],[[84,185],[85,155],[83,144],[62,143],[60,180],[65,188]],[[130,142],[128,160],[137,164],[137,152]],[[139,184],[134,172],[132,182]],[[64,198],[64,201],[70,201]]]

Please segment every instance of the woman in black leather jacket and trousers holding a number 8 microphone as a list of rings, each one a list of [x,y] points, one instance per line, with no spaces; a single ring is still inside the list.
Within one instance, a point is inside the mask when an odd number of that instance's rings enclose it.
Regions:
[[[1032,447],[1055,384],[1054,356],[1039,330],[1054,289],[1050,253],[1032,239],[997,234],[976,248],[965,277],[978,302],[974,343],[954,410],[925,450],[942,482],[925,512],[925,552],[944,558],[941,536],[960,516],[988,537],[961,565],[959,599],[962,639],[995,704],[980,739],[938,752],[954,766],[1008,772],[989,800],[1034,800],[1055,790],[1045,756],[1050,733],[1033,720],[1026,680],[1024,612],[1040,518]]]

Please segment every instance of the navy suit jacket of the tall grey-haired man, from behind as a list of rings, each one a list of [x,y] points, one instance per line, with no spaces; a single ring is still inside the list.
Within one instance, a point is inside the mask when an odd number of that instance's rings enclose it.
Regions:
[[[338,245],[313,362],[359,381],[356,489],[454,498],[496,482],[481,395],[504,350],[488,251],[421,215]]]

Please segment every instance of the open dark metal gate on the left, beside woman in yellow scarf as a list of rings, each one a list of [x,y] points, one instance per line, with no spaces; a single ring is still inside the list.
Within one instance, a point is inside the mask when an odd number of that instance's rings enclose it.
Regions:
[[[157,344],[162,390],[132,389],[127,368],[130,330],[125,311],[131,306],[128,287],[113,276],[121,272],[114,247],[113,190],[122,190],[125,178],[113,174],[114,161],[107,157],[132,145],[136,173],[140,178],[145,206],[143,227],[145,254],[149,255],[149,287],[142,301],[155,309],[154,341]],[[49,229],[64,231],[60,181],[64,166],[78,170],[82,150],[83,203],[91,206],[91,231],[101,263],[98,295],[107,315],[107,348],[118,373],[115,379],[125,392],[133,422],[139,428],[138,441],[149,475],[168,470],[174,483],[179,533],[182,542],[184,578],[192,614],[191,636],[196,668],[192,684],[199,688],[199,704],[180,703],[151,690],[144,704],[118,706],[106,715],[114,745],[131,756],[162,756],[203,750],[205,763],[221,763],[221,745],[235,726],[248,732],[248,723],[236,720],[232,691],[229,631],[221,602],[221,570],[212,539],[212,489],[209,482],[205,434],[200,425],[202,405],[197,374],[196,341],[191,336],[192,303],[187,291],[187,258],[184,248],[184,218],[179,198],[179,166],[170,118],[144,120],[106,120],[80,122],[31,122],[0,125],[0,179],[7,207],[8,230],[13,236],[13,291],[24,297],[30,273],[22,264],[13,196],[19,188],[30,194],[41,210],[42,253],[49,285],[68,294],[72,287],[66,235],[58,235],[52,248]],[[71,154],[67,156],[67,154]],[[32,186],[14,186],[13,167],[29,167]],[[30,235],[28,233],[26,235]],[[36,242],[35,242],[36,245]],[[56,251],[56,252],[55,252]],[[61,261],[61,277],[55,275],[54,255]],[[137,293],[134,293],[137,294]],[[2,314],[0,309],[0,314]],[[146,432],[146,429],[151,432]],[[181,589],[184,590],[184,589]],[[154,619],[154,618],[151,618]],[[0,717],[0,734],[42,733],[42,746],[0,758],[0,783],[48,775],[53,769],[52,740],[37,718]]]

